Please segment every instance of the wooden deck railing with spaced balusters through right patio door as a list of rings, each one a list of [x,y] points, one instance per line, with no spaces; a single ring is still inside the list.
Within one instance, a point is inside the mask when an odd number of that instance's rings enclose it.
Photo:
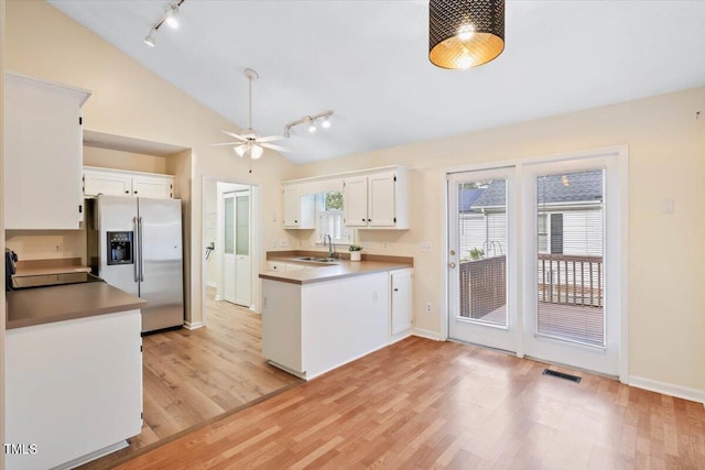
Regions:
[[[539,300],[603,306],[603,256],[539,254]]]

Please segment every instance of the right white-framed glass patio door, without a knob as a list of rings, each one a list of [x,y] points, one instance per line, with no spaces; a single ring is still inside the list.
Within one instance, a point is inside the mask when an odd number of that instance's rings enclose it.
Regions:
[[[522,182],[525,353],[610,375],[621,345],[617,163],[527,165]]]

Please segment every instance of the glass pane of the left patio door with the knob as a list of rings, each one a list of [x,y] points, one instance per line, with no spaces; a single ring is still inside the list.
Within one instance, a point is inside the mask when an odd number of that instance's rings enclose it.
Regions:
[[[458,184],[459,317],[507,326],[507,181]]]

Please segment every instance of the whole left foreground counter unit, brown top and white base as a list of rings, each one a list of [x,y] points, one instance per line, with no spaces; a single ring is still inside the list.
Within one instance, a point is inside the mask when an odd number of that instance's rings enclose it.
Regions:
[[[6,438],[35,449],[8,469],[74,467],[140,434],[145,305],[100,280],[7,293]]]

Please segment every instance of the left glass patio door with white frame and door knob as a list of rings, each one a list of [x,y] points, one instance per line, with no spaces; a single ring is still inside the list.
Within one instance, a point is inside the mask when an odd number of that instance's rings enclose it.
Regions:
[[[517,351],[514,168],[448,175],[448,336]]]

